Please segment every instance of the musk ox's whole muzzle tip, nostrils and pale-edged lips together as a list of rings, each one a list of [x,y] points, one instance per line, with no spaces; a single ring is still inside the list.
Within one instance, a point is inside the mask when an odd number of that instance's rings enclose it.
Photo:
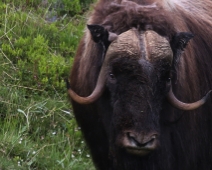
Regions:
[[[120,144],[130,154],[145,156],[159,145],[158,133],[125,132]]]

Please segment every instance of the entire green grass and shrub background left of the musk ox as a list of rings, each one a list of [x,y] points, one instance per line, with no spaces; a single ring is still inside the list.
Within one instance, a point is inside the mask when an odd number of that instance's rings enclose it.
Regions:
[[[94,169],[64,83],[94,1],[0,1],[0,170]]]

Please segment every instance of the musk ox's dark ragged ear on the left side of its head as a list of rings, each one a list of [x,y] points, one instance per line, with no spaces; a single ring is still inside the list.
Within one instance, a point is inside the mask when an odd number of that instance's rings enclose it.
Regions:
[[[104,27],[100,25],[87,25],[92,39],[96,43],[103,43],[105,47],[108,47],[110,42],[117,38],[117,34],[108,32]]]

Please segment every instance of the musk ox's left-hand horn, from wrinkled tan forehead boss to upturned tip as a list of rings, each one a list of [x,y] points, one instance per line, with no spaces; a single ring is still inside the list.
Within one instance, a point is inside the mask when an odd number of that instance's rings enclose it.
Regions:
[[[87,97],[81,97],[76,94],[70,87],[69,83],[67,82],[68,94],[72,98],[72,100],[76,101],[80,104],[90,104],[95,102],[104,92],[105,83],[107,79],[107,70],[110,60],[116,57],[122,57],[119,54],[128,54],[133,56],[138,56],[139,51],[139,39],[136,38],[137,34],[134,29],[126,31],[120,34],[117,39],[115,39],[109,46],[105,60],[102,64],[102,68],[100,70],[98,80],[96,83],[96,87],[93,92]]]

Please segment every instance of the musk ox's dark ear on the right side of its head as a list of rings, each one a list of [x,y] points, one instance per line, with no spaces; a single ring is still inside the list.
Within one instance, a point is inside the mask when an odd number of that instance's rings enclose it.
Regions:
[[[190,39],[192,39],[194,35],[190,32],[180,32],[177,33],[172,41],[171,41],[171,48],[173,51],[173,65],[176,65],[182,55],[185,47],[187,46]]]

